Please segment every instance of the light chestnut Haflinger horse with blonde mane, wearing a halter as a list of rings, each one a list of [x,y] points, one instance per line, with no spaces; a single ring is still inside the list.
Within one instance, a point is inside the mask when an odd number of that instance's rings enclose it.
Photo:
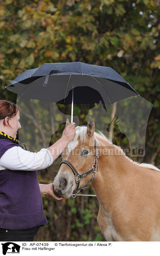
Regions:
[[[76,127],[53,186],[57,194],[70,198],[91,182],[100,205],[98,225],[107,241],[160,241],[159,171],[129,159],[95,132],[89,118],[87,126]]]

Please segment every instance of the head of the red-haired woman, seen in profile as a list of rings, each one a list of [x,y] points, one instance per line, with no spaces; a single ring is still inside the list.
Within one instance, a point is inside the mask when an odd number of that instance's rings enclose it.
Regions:
[[[16,138],[16,132],[21,128],[20,110],[18,105],[8,100],[0,100],[0,130],[13,138]]]

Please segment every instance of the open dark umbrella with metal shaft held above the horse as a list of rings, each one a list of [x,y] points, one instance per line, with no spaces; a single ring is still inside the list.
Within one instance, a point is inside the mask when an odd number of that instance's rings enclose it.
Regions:
[[[112,68],[82,62],[45,63],[26,70],[6,88],[19,98],[72,103],[72,120],[73,102],[112,104],[138,95]]]

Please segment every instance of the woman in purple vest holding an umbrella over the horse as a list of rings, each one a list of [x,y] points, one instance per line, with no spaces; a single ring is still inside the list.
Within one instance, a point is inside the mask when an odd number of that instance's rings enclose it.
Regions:
[[[39,226],[47,224],[41,193],[62,198],[54,194],[52,183],[38,183],[37,170],[51,165],[76,134],[71,123],[51,147],[30,152],[16,140],[20,110],[0,100],[0,241],[33,241]]]

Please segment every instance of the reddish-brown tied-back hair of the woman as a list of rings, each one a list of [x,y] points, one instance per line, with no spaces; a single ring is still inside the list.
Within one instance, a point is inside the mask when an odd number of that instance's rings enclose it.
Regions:
[[[8,118],[16,116],[18,110],[21,111],[21,108],[17,104],[8,100],[0,100],[0,120],[5,119],[7,116]],[[3,124],[6,126],[5,120],[3,120]],[[8,125],[10,126],[9,122]]]

